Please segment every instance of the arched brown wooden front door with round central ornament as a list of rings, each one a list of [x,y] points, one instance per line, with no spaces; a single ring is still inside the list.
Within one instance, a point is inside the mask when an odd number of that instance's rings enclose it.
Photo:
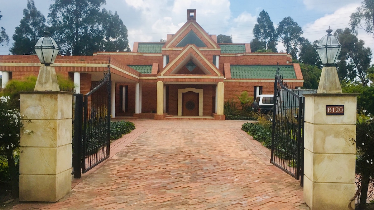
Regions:
[[[182,115],[199,116],[199,93],[182,93]]]

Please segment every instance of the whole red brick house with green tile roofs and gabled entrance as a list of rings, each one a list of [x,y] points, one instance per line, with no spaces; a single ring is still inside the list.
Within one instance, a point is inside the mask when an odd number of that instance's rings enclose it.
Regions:
[[[251,53],[249,44],[218,44],[187,10],[187,22],[166,43],[135,42],[132,52],[57,56],[56,73],[74,80],[86,94],[110,66],[112,117],[211,116],[224,120],[223,104],[242,91],[272,94],[277,64],[283,81],[303,86],[300,66],[286,53]],[[3,86],[9,79],[37,75],[36,55],[0,56]],[[51,65],[52,66],[52,65]],[[115,109],[113,109],[115,108]]]

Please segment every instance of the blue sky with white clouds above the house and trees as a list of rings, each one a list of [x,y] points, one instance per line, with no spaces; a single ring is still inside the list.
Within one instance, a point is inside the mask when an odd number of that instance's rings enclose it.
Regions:
[[[47,18],[53,0],[34,0],[35,6]],[[3,16],[0,26],[10,37],[9,46],[0,46],[0,55],[9,54],[15,27],[23,18],[27,0],[0,0]],[[332,30],[349,27],[351,13],[361,6],[361,0],[107,0],[103,6],[117,11],[128,28],[129,45],[134,41],[160,41],[166,34],[175,34],[187,21],[187,9],[196,9],[196,21],[209,34],[232,36],[233,43],[250,43],[258,14],[269,13],[275,28],[290,16],[303,29],[303,37],[313,42]],[[370,34],[358,31],[358,38],[373,49]],[[278,51],[284,51],[282,43]]]

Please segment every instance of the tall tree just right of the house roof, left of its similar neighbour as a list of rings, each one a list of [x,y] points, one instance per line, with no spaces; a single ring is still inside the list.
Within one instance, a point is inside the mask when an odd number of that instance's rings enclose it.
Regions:
[[[265,10],[262,10],[257,18],[257,23],[253,28],[253,35],[259,41],[265,43],[265,48],[276,50],[276,33],[270,16]]]

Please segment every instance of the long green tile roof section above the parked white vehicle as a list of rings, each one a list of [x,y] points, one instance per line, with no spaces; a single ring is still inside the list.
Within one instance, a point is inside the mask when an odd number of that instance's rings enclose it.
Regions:
[[[277,65],[230,65],[232,79],[274,79]],[[279,66],[284,79],[296,79],[293,65]]]

